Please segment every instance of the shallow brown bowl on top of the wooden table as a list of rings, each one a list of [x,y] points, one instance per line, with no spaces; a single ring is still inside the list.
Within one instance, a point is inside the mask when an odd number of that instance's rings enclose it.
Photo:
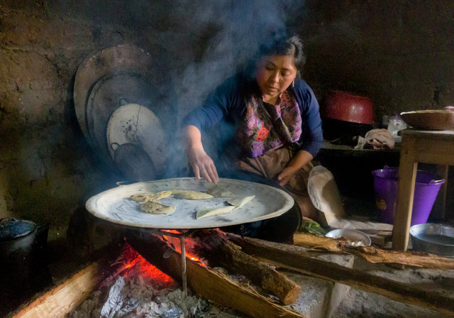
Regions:
[[[407,125],[415,129],[445,131],[454,128],[454,111],[450,110],[407,111],[400,116]]]

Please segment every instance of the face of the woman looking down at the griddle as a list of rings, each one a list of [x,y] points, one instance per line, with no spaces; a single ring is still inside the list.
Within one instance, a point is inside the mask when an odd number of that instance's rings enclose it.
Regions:
[[[293,55],[267,55],[262,57],[255,72],[264,99],[277,97],[292,84],[297,76]]]

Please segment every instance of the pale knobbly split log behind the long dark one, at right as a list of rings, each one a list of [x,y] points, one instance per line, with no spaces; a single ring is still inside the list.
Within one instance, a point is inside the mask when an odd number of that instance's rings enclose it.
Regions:
[[[454,269],[452,258],[436,256],[434,254],[411,251],[386,251],[374,246],[348,246],[348,243],[338,238],[329,238],[305,233],[294,234],[294,245],[307,248],[316,248],[337,253],[349,253],[364,258],[370,263],[393,263],[411,265],[423,268],[441,270]]]

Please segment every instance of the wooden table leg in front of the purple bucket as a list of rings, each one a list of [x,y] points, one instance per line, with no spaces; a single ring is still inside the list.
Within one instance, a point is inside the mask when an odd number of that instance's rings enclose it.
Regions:
[[[418,163],[415,162],[414,143],[413,138],[402,139],[397,204],[392,231],[392,249],[397,251],[406,251],[409,243],[414,183],[418,168]]]

